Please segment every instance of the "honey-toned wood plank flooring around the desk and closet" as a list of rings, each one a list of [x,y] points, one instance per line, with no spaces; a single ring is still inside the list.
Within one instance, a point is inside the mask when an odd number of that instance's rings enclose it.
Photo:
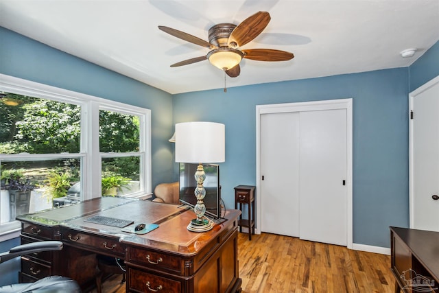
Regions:
[[[390,256],[294,237],[239,233],[242,292],[394,292]],[[121,277],[108,279],[104,293],[125,293]],[[93,291],[96,292],[96,291]]]

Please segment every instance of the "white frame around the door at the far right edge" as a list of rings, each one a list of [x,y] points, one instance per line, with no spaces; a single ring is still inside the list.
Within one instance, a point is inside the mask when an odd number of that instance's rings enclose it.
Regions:
[[[414,158],[413,158],[413,119],[410,119],[410,113],[413,110],[413,100],[416,96],[427,91],[433,86],[439,84],[439,75],[433,78],[429,82],[419,86],[409,93],[409,218],[410,228],[414,227]]]

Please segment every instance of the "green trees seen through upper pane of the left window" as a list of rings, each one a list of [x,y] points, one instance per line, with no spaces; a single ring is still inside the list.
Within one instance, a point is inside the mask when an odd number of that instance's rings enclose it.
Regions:
[[[59,154],[80,151],[80,106],[8,94],[10,96],[23,103],[17,106],[0,103],[0,152]]]

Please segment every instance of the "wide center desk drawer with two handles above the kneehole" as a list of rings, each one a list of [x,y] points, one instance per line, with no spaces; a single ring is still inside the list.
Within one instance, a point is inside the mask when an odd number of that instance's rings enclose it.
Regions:
[[[125,258],[126,246],[121,244],[118,238],[100,237],[67,230],[62,233],[62,240],[66,244],[82,246],[97,253]]]

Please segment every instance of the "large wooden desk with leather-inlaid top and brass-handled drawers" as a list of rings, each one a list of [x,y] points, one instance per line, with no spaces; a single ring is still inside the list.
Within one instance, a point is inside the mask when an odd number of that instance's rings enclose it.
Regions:
[[[59,252],[22,257],[21,281],[61,274],[93,286],[96,254],[125,259],[126,292],[240,292],[237,219],[228,210],[205,233],[187,230],[195,214],[176,205],[126,198],[96,198],[41,213],[21,215],[23,243],[58,239]],[[159,227],[144,235],[85,222],[91,215],[126,218]]]

